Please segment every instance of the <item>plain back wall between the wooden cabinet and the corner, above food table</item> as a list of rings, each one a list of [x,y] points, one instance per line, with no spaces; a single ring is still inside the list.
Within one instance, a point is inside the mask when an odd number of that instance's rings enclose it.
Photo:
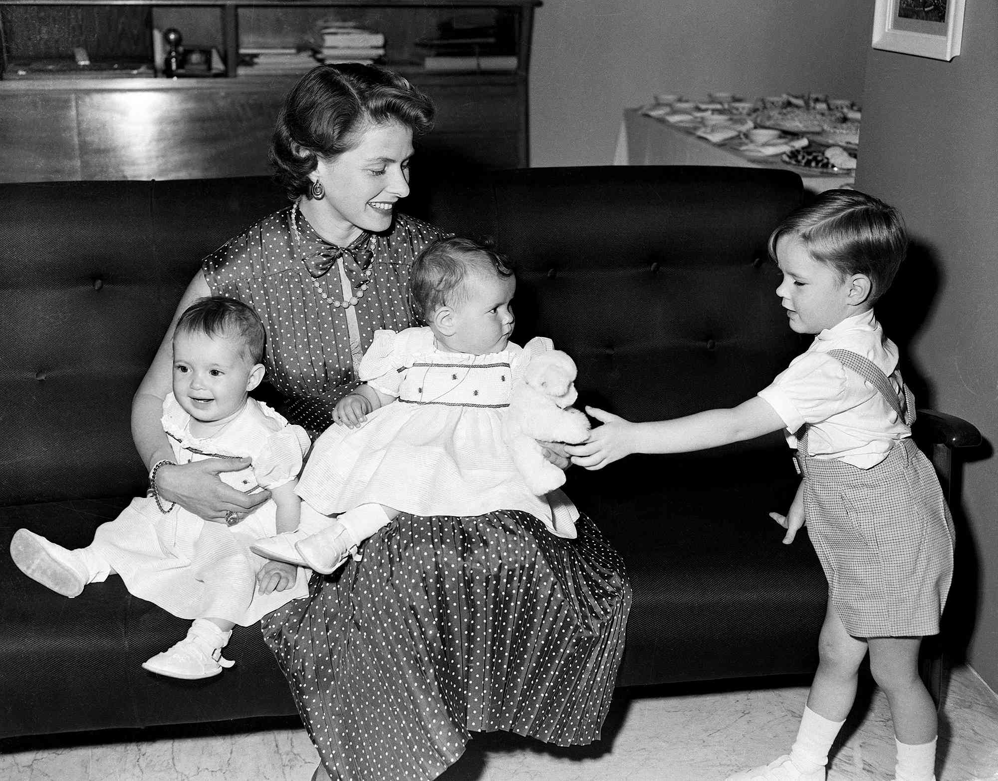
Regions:
[[[858,100],[869,0],[544,0],[531,60],[531,165],[608,165],[621,114],[656,93],[822,92]]]

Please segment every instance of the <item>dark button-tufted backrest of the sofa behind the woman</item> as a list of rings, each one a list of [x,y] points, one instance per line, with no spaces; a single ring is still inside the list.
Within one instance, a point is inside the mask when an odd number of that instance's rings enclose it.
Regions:
[[[528,169],[414,183],[403,211],[494,238],[514,338],[570,353],[585,401],[656,419],[738,403],[802,349],[764,256],[800,195],[761,169]],[[177,302],[285,203],[265,178],[0,185],[0,503],[145,489],[129,410]]]

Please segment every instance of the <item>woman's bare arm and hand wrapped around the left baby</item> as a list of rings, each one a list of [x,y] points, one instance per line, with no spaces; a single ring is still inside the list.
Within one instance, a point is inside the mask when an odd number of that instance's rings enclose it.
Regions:
[[[163,401],[173,388],[177,320],[197,299],[211,295],[205,275],[198,272],[181,298],[156,358],[132,399],[132,438],[147,469],[158,461],[174,458],[161,419]],[[270,496],[266,490],[244,493],[219,479],[220,471],[238,471],[249,465],[249,458],[207,458],[182,465],[167,464],[156,473],[156,489],[165,501],[176,501],[205,520],[225,522],[227,513],[245,513]]]

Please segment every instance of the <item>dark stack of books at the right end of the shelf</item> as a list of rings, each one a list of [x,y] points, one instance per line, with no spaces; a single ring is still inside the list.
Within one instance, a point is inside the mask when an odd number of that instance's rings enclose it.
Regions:
[[[417,41],[430,50],[423,67],[428,71],[515,71],[515,38],[503,21],[466,14],[441,23],[435,38]]]

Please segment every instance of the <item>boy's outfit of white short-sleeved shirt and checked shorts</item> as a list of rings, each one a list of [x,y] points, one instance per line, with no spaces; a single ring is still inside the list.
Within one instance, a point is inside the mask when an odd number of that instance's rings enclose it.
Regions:
[[[932,464],[911,439],[915,402],[896,349],[872,315],[849,320],[822,332],[759,395],[784,421],[804,420],[791,438],[807,531],[846,631],[936,634],[952,580],[953,520]],[[827,381],[820,399],[817,377]],[[836,419],[839,432],[828,428]],[[836,442],[856,446],[830,455]]]

